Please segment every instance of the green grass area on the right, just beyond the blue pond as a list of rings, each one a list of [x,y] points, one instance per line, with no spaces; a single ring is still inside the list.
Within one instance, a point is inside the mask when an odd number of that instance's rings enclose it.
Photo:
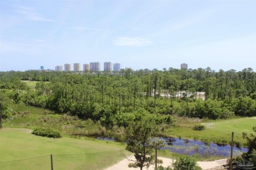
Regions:
[[[194,124],[204,124],[203,131],[194,131]],[[215,120],[202,122],[184,122],[177,124],[175,127],[170,127],[164,133],[173,137],[181,137],[182,139],[196,139],[205,142],[221,142],[230,143],[231,134],[234,132],[234,141],[236,143],[245,144],[245,139],[242,139],[242,132],[253,133],[252,127],[256,125],[256,118],[234,118],[230,120]]]

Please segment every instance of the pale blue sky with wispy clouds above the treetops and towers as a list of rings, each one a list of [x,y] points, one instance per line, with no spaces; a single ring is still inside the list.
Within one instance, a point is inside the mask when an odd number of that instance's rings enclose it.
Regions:
[[[0,71],[104,61],[256,71],[256,1],[0,1]]]

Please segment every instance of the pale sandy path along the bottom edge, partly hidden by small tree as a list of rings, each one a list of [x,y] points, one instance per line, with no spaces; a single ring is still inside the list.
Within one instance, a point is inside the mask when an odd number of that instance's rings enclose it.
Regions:
[[[135,160],[134,156],[129,156],[128,159]],[[173,162],[173,160],[170,158],[159,157],[159,159],[163,160],[163,163],[160,164],[163,167],[167,167],[168,165],[171,165],[171,163]],[[105,170],[135,170],[135,169],[139,169],[139,167],[137,167],[137,168],[128,167],[129,163],[133,162],[133,161],[129,161],[129,160],[127,160],[125,158],[125,159],[119,161],[119,163],[116,163],[116,165],[113,165],[112,167],[108,167]],[[226,159],[215,160],[215,161],[198,161],[198,165],[200,167],[202,167],[202,169],[223,169],[222,165],[224,165],[224,164],[226,164]],[[146,169],[146,167],[144,167],[144,169]],[[148,170],[154,170],[154,165],[150,165],[150,167],[148,167]]]

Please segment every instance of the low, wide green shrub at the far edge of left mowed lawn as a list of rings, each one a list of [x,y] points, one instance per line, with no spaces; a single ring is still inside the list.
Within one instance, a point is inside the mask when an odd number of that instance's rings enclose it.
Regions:
[[[33,129],[33,135],[42,136],[42,137],[53,137],[60,138],[62,137],[60,131],[49,128],[49,127],[38,127]]]

